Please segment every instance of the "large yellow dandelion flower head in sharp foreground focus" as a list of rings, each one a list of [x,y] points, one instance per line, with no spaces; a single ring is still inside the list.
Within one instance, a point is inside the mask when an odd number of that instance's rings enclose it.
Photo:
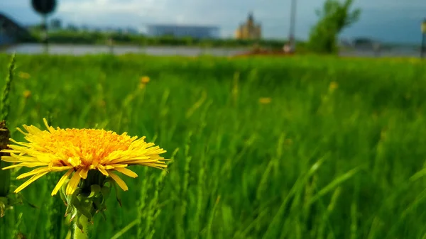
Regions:
[[[23,125],[28,133],[25,135],[28,142],[16,142],[9,145],[11,149],[0,152],[10,152],[11,156],[4,156],[1,160],[11,162],[14,165],[4,167],[38,167],[31,172],[26,172],[17,177],[22,179],[30,177],[18,187],[15,192],[21,191],[36,179],[49,172],[63,172],[65,174],[59,180],[52,191],[52,196],[58,193],[72,173],[70,182],[65,189],[70,195],[77,189],[80,179],[87,178],[90,169],[99,170],[107,177],[111,177],[123,189],[128,190],[126,183],[116,172],[121,172],[129,177],[138,175],[127,169],[129,165],[143,165],[164,169],[165,159],[160,154],[166,152],[154,143],[146,143],[145,137],[130,137],[126,133],[118,135],[112,131],[99,129],[53,128],[43,118],[48,130],[40,130],[35,126]]]

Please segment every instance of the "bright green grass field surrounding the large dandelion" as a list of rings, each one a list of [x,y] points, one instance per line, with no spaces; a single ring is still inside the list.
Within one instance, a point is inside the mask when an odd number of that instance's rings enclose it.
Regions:
[[[1,79],[9,59],[0,55]],[[22,124],[44,128],[50,114],[54,127],[146,135],[167,158],[178,149],[168,174],[131,168],[139,177],[123,177],[123,206],[111,194],[95,238],[426,238],[426,172],[416,174],[426,163],[425,62],[138,55],[16,62],[12,138],[23,140],[15,130]],[[139,89],[142,76],[151,82]],[[53,187],[44,177],[24,189],[37,208],[7,211],[0,238],[18,231],[48,238],[49,205],[60,210],[55,223],[65,238],[65,206],[51,200]]]

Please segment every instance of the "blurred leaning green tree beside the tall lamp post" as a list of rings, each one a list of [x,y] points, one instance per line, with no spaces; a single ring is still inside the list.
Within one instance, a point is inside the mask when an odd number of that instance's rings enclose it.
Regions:
[[[336,53],[337,36],[359,20],[361,9],[351,11],[353,0],[325,0],[324,6],[317,11],[320,20],[311,32],[308,48],[317,53]]]

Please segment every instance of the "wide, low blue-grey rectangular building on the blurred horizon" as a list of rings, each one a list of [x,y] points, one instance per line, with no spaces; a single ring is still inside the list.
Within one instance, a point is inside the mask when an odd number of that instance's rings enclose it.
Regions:
[[[148,35],[154,37],[169,35],[175,38],[219,38],[219,28],[216,26],[148,25],[147,29]]]

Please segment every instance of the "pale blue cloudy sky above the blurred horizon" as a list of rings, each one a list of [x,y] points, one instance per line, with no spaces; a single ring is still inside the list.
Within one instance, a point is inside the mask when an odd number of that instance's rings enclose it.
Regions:
[[[57,0],[50,18],[77,26],[133,27],[148,23],[219,26],[231,37],[253,12],[264,38],[286,38],[291,0]],[[343,0],[342,0],[343,1]],[[306,39],[316,23],[316,9],[324,0],[297,0],[295,35]],[[389,43],[420,43],[420,24],[426,18],[426,0],[354,0],[361,18],[341,38],[368,37]],[[0,11],[21,24],[39,23],[31,0],[0,0]]]

